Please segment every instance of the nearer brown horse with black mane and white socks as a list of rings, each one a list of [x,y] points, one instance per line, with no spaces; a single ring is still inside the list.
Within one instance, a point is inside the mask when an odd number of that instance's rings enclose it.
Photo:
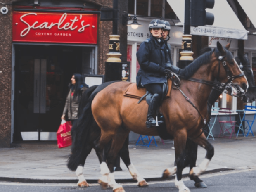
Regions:
[[[201,130],[204,121],[208,118],[206,106],[212,88],[209,82],[217,79],[224,86],[229,83],[244,92],[248,84],[232,54],[219,42],[217,49],[204,53],[184,71],[187,77],[200,79],[200,83],[181,80],[180,88],[172,89],[171,97],[165,99],[160,107],[166,121],[167,131],[174,137],[177,165],[175,185],[179,192],[190,191],[182,181],[187,138],[206,149],[204,161],[199,167],[193,168],[190,174],[198,176],[204,172],[214,154],[213,146],[206,140]],[[96,152],[101,162],[101,173],[108,175],[109,185],[113,187],[114,192],[124,192],[123,187],[114,180],[113,161],[129,132],[158,135],[156,128],[146,128],[147,103],[142,101],[138,104],[138,100],[123,96],[129,85],[131,83],[128,82],[112,83],[95,96],[91,106],[93,117],[101,129],[101,137],[96,145]],[[188,97],[185,98],[184,95]],[[187,100],[192,102],[194,107],[186,102]],[[107,156],[109,165],[107,167],[103,158],[103,148],[111,139],[113,140]]]

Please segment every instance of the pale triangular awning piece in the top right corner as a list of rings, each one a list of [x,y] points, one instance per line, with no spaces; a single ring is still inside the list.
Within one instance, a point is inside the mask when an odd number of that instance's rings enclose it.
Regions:
[[[247,14],[252,24],[256,27],[256,1],[255,0],[238,0],[244,12]]]

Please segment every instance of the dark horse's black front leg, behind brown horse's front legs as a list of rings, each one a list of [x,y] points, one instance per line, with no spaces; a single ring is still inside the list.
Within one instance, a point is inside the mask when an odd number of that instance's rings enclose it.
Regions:
[[[196,166],[197,161],[197,147],[198,145],[190,139],[187,139],[186,151],[188,152],[188,159],[190,163],[190,170]],[[196,175],[190,175],[190,179],[193,180],[194,186],[197,188],[207,188],[207,185]]]

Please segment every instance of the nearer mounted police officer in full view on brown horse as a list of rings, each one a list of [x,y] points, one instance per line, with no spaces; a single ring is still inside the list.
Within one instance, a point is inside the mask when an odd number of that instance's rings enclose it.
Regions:
[[[153,95],[147,113],[147,128],[156,126],[154,115],[161,102],[163,84],[167,82],[166,74],[170,72],[166,67],[165,44],[161,38],[163,27],[162,21],[153,19],[149,24],[151,37],[140,45],[136,54],[140,64],[137,87],[145,87]]]

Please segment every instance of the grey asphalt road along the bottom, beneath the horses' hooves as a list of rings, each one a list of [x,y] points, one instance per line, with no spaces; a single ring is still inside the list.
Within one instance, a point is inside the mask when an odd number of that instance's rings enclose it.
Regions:
[[[256,169],[234,170],[202,175],[207,189],[196,189],[194,182],[188,178],[184,183],[191,192],[255,192]],[[139,188],[135,183],[122,184],[126,192],[178,192],[174,180],[150,182],[149,187]],[[30,184],[30,183],[0,183],[1,192],[111,192],[111,189],[101,190],[99,185],[91,184],[88,188],[78,188],[73,184]]]

